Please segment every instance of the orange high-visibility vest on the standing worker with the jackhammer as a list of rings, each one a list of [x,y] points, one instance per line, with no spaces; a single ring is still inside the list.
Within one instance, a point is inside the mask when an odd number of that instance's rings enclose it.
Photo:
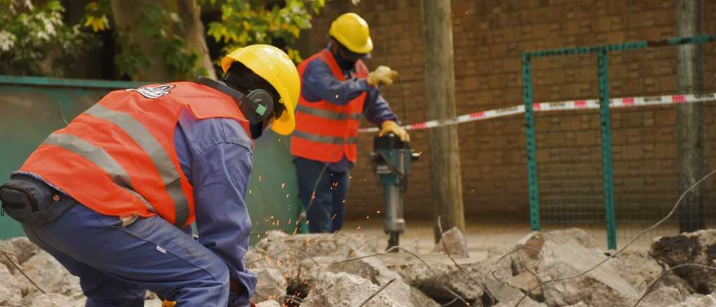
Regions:
[[[341,68],[330,51],[324,49],[298,66],[303,79],[304,70],[311,61],[324,61],[339,81],[345,81]],[[363,61],[355,64],[357,78],[368,76]],[[311,160],[337,162],[345,155],[355,162],[358,156],[358,127],[363,115],[366,94],[362,93],[345,106],[328,101],[309,102],[299,97],[296,106],[296,130],[291,136],[291,154]]]

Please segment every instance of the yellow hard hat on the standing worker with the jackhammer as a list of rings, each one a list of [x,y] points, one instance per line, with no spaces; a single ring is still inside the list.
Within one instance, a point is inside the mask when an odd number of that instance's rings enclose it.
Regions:
[[[373,51],[373,40],[370,39],[368,23],[358,14],[346,13],[338,16],[331,24],[328,34],[357,54]]]

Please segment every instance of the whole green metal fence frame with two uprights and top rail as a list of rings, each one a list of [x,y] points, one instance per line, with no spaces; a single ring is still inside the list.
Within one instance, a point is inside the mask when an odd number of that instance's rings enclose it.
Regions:
[[[624,44],[584,46],[576,48],[527,51],[522,54],[523,98],[526,121],[526,149],[528,166],[528,193],[530,201],[530,223],[533,230],[541,229],[540,188],[536,152],[535,115],[533,109],[532,60],[554,56],[576,56],[596,54],[597,76],[599,79],[599,127],[601,133],[601,166],[604,183],[604,220],[606,221],[607,247],[616,248],[616,216],[614,208],[614,174],[611,148],[611,115],[609,110],[609,54],[614,51],[650,49],[662,46],[684,44],[705,44],[716,41],[716,35],[676,37],[662,41],[634,41]]]

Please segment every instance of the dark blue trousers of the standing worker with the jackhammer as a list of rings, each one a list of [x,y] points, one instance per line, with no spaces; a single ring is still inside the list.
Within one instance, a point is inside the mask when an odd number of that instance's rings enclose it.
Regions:
[[[296,158],[294,163],[299,179],[299,196],[309,219],[309,231],[339,231],[345,215],[344,200],[349,188],[349,172],[332,171],[326,167],[326,163],[306,158]]]

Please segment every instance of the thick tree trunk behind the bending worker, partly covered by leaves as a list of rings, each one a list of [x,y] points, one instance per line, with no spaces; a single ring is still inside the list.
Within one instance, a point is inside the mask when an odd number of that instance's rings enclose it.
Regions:
[[[142,54],[147,56],[150,65],[139,69],[135,81],[175,81],[191,80],[195,76],[177,74],[170,71],[165,55],[155,50],[155,39],[147,36],[137,26],[137,20],[145,18],[145,1],[149,0],[112,0],[112,15],[120,34],[126,34],[133,44],[139,46]],[[177,34],[185,41],[186,51],[197,52],[199,65],[208,76],[216,79],[216,72],[211,64],[209,50],[206,46],[204,26],[201,23],[201,8],[196,0],[158,0],[153,4],[177,14],[180,25],[165,25],[165,31]]]

